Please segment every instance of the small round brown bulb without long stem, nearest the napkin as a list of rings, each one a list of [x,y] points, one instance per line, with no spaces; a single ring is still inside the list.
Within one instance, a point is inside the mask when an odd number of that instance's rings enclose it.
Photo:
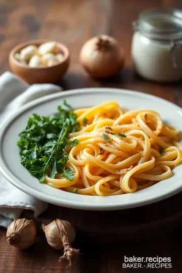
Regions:
[[[35,222],[26,218],[16,219],[8,226],[6,236],[10,245],[19,249],[26,249],[35,242]]]

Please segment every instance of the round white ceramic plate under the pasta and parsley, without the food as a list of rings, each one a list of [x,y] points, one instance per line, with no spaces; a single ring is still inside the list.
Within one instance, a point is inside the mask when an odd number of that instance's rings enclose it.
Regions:
[[[132,194],[118,196],[83,196],[67,193],[40,184],[21,165],[18,134],[25,128],[33,113],[50,115],[57,112],[57,106],[65,100],[73,108],[93,106],[109,100],[117,101],[121,107],[132,109],[153,109],[162,119],[182,131],[182,109],[160,98],[123,89],[87,88],[75,89],[46,96],[21,108],[1,127],[0,131],[0,171],[18,189],[40,200],[59,206],[84,210],[116,210],[138,207],[162,200],[182,189],[182,165],[174,169],[173,176],[156,185]],[[0,193],[1,195],[1,193]]]

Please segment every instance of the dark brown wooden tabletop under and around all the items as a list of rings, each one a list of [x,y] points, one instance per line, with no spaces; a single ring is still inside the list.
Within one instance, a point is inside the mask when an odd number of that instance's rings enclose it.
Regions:
[[[8,55],[18,43],[36,39],[55,39],[67,45],[71,66],[58,81],[65,90],[81,87],[119,87],[164,98],[182,107],[180,82],[157,84],[135,74],[130,58],[131,22],[141,11],[153,7],[182,8],[181,0],[0,0],[0,73],[9,70]],[[95,35],[114,36],[125,51],[126,64],[115,78],[97,81],[79,64],[82,44]],[[146,268],[122,268],[125,256],[171,257],[172,268],[147,272],[181,272],[181,194],[168,200],[128,212],[83,212],[50,206],[37,220],[55,217],[71,221],[77,232],[75,246],[83,253],[71,268],[59,263],[60,252],[52,249],[39,230],[36,243],[25,251],[11,248],[6,230],[0,229],[0,272],[2,273],[118,273],[146,272]],[[27,217],[33,216],[27,211]],[[118,218],[117,218],[118,213]],[[120,216],[120,217],[119,217]],[[99,223],[99,225],[98,225]],[[102,230],[103,232],[102,232]],[[110,231],[110,236],[106,233]],[[136,240],[134,240],[136,239]]]

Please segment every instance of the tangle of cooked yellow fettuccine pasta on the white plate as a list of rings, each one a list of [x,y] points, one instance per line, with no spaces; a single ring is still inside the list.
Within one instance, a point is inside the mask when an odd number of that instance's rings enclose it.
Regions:
[[[80,130],[69,134],[67,167],[74,179],[46,176],[52,187],[78,194],[134,193],[172,176],[182,161],[179,130],[153,110],[125,111],[115,101],[75,110]]]

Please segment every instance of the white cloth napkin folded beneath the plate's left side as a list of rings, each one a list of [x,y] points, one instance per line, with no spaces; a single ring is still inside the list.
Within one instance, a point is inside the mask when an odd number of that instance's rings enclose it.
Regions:
[[[54,84],[29,85],[11,72],[5,72],[0,76],[0,124],[26,103],[61,91],[62,88]],[[47,208],[47,203],[18,190],[0,173],[0,226],[7,228],[24,209],[33,210],[37,217]]]

